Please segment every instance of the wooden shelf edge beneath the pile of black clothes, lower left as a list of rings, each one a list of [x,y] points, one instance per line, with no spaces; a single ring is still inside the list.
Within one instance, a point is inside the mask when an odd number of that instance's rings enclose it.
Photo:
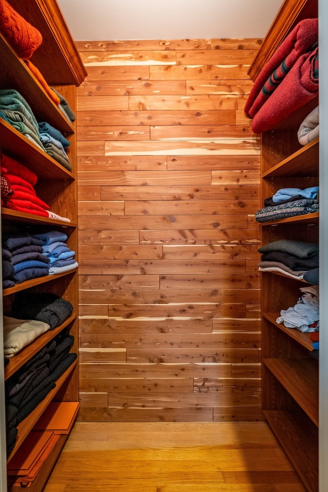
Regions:
[[[17,441],[15,444],[14,449],[12,450],[12,453],[10,454],[9,458],[17,451],[19,446],[24,442],[26,436],[30,433],[32,428],[34,427],[35,423],[38,421],[40,415],[45,411],[47,408],[48,404],[50,401],[55,397],[56,393],[59,391],[61,385],[64,384],[66,379],[69,377],[69,375],[73,372],[74,368],[77,365],[77,359],[69,366],[69,368],[65,371],[64,374],[62,374],[56,381],[56,387],[54,387],[46,396],[42,402],[40,402],[36,408],[28,415],[22,422],[20,422],[17,426],[18,428],[18,435],[17,435]]]

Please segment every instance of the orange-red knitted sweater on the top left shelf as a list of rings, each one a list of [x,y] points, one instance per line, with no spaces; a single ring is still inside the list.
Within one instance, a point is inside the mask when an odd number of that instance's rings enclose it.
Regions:
[[[41,33],[6,0],[0,0],[0,30],[22,58],[30,58],[42,43]]]

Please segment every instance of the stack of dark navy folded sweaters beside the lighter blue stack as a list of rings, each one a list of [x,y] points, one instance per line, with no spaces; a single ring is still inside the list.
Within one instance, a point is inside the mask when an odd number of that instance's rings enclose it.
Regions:
[[[4,234],[2,254],[6,269],[4,289],[49,274],[49,258],[43,254],[42,240],[28,233]]]

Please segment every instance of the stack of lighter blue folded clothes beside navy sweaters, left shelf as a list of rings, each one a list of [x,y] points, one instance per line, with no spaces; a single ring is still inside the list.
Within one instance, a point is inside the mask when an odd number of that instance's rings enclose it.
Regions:
[[[35,238],[42,241],[43,254],[49,260],[49,275],[67,272],[78,267],[75,260],[75,251],[68,248],[67,235],[61,231],[49,231],[44,234],[35,234]]]

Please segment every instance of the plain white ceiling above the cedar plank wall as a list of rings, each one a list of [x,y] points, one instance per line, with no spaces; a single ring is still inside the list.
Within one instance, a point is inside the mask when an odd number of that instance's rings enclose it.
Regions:
[[[261,38],[282,4],[282,0],[57,2],[75,41]]]

